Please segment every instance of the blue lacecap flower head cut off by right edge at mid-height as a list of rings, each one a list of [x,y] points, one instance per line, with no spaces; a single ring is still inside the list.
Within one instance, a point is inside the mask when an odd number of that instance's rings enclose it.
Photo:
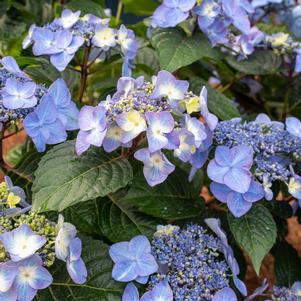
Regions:
[[[237,118],[220,122],[213,138],[218,146],[207,168],[211,192],[236,217],[254,202],[271,200],[276,181],[300,200],[300,138],[301,122],[295,117],[288,117],[285,124],[264,114],[251,122]]]

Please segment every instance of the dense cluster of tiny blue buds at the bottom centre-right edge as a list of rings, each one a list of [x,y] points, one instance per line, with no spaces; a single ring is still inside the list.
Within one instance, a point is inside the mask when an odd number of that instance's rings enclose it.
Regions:
[[[162,272],[152,276],[151,283],[167,279],[175,301],[212,300],[217,291],[229,286],[231,272],[222,248],[221,241],[199,225],[183,230],[159,227],[152,252]]]

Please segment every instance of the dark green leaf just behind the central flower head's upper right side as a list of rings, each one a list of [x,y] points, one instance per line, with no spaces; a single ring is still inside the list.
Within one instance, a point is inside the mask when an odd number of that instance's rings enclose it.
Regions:
[[[224,94],[211,88],[206,81],[199,77],[190,79],[191,90],[199,95],[203,86],[208,90],[208,107],[210,112],[215,114],[221,120],[228,120],[240,116],[234,103]]]

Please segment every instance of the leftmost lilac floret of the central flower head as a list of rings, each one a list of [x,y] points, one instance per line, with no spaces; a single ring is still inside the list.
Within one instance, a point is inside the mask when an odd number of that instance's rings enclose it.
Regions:
[[[84,106],[79,113],[79,127],[76,139],[78,155],[91,145],[100,147],[107,133],[106,109],[102,106]]]

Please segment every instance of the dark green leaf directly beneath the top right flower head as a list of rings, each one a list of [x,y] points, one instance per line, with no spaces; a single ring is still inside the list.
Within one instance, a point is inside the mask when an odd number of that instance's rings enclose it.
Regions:
[[[245,74],[266,75],[276,73],[281,66],[281,56],[270,50],[254,52],[245,60],[237,60],[235,56],[227,57],[228,64]]]

